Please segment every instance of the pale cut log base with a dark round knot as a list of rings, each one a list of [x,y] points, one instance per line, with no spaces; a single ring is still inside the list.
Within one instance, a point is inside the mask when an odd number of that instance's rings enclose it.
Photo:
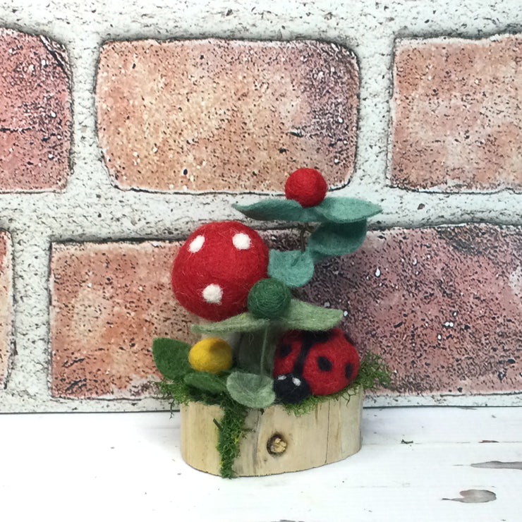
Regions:
[[[346,459],[360,449],[362,411],[362,389],[348,402],[343,398],[324,401],[300,416],[286,413],[282,406],[251,410],[233,470],[238,476],[273,475]],[[219,475],[220,468],[214,420],[219,423],[222,416],[219,406],[181,406],[183,459],[212,475]]]

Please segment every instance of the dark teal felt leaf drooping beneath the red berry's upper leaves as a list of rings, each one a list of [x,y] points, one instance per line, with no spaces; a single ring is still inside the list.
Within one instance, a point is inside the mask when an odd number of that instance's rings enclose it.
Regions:
[[[366,236],[366,220],[355,223],[323,223],[310,234],[306,250],[315,261],[357,250]]]

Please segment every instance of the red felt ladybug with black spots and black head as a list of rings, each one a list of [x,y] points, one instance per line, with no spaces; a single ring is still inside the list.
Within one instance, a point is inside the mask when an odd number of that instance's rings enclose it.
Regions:
[[[339,328],[327,332],[290,330],[279,341],[274,356],[277,399],[298,403],[308,395],[329,395],[353,381],[359,355]]]

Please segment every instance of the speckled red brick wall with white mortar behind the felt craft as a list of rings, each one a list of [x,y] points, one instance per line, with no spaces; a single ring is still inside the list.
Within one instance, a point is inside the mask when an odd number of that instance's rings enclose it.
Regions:
[[[178,246],[300,166],[384,210],[301,291],[394,370],[367,403],[522,404],[517,2],[147,4],[0,7],[0,411],[165,408]]]

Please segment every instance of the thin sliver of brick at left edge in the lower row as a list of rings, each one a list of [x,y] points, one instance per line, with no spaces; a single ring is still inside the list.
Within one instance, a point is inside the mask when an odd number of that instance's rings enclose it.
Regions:
[[[6,386],[13,346],[13,267],[11,236],[0,232],[0,388]]]

